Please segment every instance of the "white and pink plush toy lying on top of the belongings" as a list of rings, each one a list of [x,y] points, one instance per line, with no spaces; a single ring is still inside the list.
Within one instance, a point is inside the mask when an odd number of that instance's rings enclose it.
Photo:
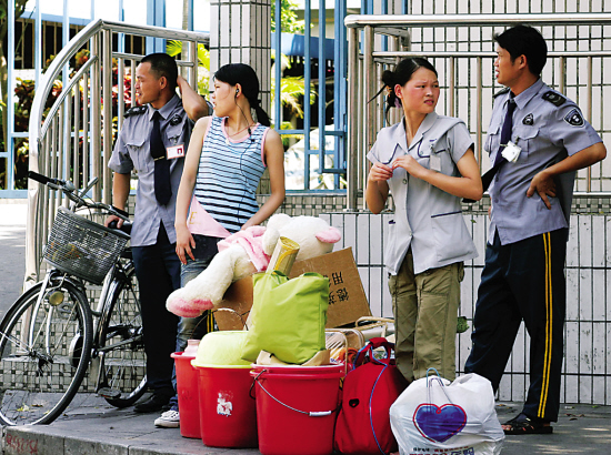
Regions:
[[[216,307],[231,283],[267,269],[280,236],[299,244],[296,261],[301,261],[331,252],[341,233],[317,216],[273,215],[267,228],[251,226],[219,242],[208,269],[170,294],[166,306],[182,317]]]

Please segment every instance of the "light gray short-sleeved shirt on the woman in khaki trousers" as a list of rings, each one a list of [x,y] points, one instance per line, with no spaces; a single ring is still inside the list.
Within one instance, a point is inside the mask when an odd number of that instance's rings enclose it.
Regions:
[[[427,169],[459,176],[455,163],[471,145],[473,141],[462,120],[432,112],[409,148],[401,121],[380,130],[367,158],[390,165],[409,153]],[[410,246],[417,274],[478,255],[459,198],[410,176],[402,168],[394,170],[388,184],[394,200],[394,219],[389,222],[384,263],[391,274],[399,272]]]

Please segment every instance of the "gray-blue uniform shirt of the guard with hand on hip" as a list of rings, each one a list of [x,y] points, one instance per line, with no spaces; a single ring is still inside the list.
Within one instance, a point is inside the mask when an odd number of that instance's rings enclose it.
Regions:
[[[494,101],[484,145],[491,162],[500,152],[508,100],[509,90],[501,92]],[[569,226],[574,172],[555,179],[558,198],[549,198],[551,210],[539,194],[527,198],[527,191],[538,172],[601,142],[578,105],[541,80],[514,100],[511,141],[521,152],[515,162],[505,162],[500,168],[490,186],[492,221],[488,241],[492,243],[494,231],[498,231],[503,245]]]

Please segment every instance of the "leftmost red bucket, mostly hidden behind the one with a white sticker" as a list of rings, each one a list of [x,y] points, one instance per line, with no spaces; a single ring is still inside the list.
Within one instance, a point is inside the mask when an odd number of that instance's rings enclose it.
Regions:
[[[184,437],[200,438],[200,408],[198,373],[191,361],[193,355],[183,352],[171,354],[177,368],[178,408],[180,413],[180,434]]]

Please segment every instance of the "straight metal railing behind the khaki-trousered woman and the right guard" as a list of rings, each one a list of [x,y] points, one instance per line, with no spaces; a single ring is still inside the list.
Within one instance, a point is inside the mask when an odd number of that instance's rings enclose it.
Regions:
[[[603,109],[611,92],[604,79],[611,69],[611,13],[349,16],[348,209],[359,209],[368,169],[364,156],[385,124],[383,98],[368,101],[381,84],[382,71],[404,57],[425,57],[437,67],[442,89],[438,113],[467,122],[478,162],[489,169],[482,141],[492,97],[502,88],[493,77],[492,34],[514,23],[541,28],[550,48],[543,80],[578,102],[604,141],[611,139],[611,113]],[[393,117],[391,122],[395,121]],[[605,161],[580,171],[577,190],[610,191],[610,171],[611,163]]]

